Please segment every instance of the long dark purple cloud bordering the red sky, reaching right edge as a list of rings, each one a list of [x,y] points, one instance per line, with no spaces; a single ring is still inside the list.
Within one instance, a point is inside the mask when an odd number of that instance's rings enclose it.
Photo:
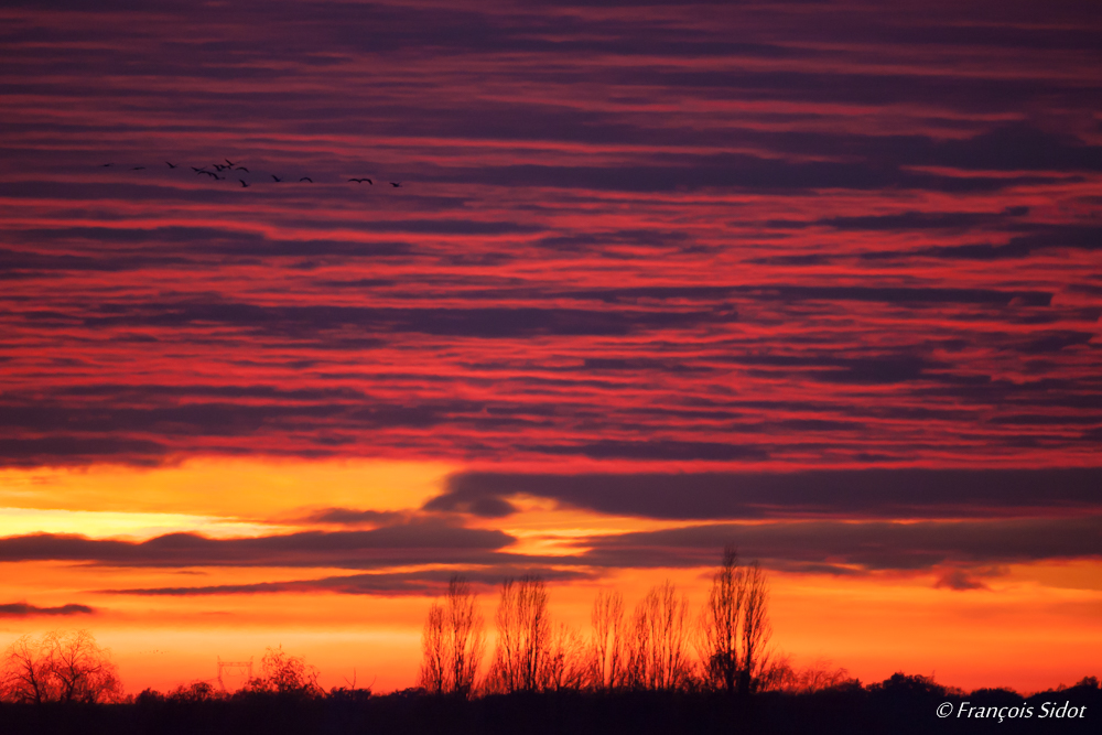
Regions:
[[[959,518],[1102,508],[1102,468],[819,469],[795,473],[461,473],[429,510],[503,515],[515,495],[666,519]],[[498,505],[479,505],[489,500]]]

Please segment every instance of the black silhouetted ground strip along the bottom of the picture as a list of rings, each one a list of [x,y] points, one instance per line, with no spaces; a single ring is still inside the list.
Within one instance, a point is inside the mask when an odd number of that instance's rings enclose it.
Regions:
[[[938,717],[949,702],[952,714]],[[1004,721],[959,716],[961,703],[1007,707]],[[1083,707],[1076,718],[1041,717],[1046,703]],[[1033,716],[1007,716],[1033,707]],[[948,709],[948,706],[947,706]],[[965,707],[966,710],[966,707]],[[1022,711],[1019,711],[1022,712]],[[922,677],[896,674],[878,684],[833,690],[769,692],[730,698],[707,692],[553,692],[491,695],[472,701],[410,690],[386,695],[335,691],[309,698],[237,694],[229,699],[143,692],[127,704],[0,704],[0,733],[50,735],[220,735],[336,733],[570,734],[607,733],[1099,733],[1102,690],[1084,679],[1070,689],[1023,699],[1009,690],[963,693]]]

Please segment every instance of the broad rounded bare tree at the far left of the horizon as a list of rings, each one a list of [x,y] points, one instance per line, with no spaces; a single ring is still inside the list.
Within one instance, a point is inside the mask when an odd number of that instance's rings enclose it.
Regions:
[[[6,699],[17,702],[116,702],[122,696],[110,651],[87,630],[18,639],[4,651]]]

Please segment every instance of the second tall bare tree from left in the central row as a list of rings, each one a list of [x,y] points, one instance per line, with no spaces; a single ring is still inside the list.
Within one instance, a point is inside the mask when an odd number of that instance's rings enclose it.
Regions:
[[[491,689],[539,691],[545,688],[551,619],[543,580],[506,580],[497,607],[497,646],[490,671]]]

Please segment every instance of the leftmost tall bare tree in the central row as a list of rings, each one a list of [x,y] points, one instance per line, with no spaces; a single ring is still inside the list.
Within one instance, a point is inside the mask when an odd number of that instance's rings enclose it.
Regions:
[[[466,696],[485,650],[485,623],[471,585],[453,576],[444,603],[433,603],[421,631],[419,684],[433,694]]]

